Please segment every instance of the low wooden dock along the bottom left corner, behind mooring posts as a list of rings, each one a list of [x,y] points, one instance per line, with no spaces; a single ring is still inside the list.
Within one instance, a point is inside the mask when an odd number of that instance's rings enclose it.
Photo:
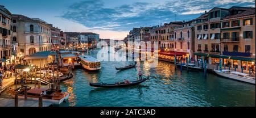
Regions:
[[[43,107],[49,107],[52,103],[43,102]],[[18,100],[19,107],[38,107],[38,100]],[[15,107],[14,99],[0,98],[0,107]]]

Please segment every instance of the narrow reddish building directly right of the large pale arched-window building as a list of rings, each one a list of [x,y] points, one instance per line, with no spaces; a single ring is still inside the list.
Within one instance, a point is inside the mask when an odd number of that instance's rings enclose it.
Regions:
[[[58,27],[51,26],[51,43],[52,43],[52,50],[58,50],[61,47],[61,37],[60,37],[60,30]]]

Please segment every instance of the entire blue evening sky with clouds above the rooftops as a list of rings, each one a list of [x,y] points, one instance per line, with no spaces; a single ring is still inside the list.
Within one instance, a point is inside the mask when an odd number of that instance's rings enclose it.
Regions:
[[[1,0],[0,5],[13,14],[43,19],[63,31],[123,39],[133,27],[191,20],[213,7],[255,7],[255,0]]]

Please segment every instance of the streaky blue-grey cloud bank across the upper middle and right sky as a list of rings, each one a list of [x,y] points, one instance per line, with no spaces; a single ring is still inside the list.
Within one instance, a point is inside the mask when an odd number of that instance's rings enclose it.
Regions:
[[[173,20],[191,20],[213,7],[253,6],[255,0],[174,0],[134,2],[106,7],[102,0],[73,3],[61,18],[97,30],[129,31],[133,27],[155,26]]]

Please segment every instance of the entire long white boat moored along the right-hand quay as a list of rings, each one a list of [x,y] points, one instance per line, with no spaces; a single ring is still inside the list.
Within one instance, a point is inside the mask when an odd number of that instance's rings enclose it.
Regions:
[[[214,70],[214,71],[216,74],[222,77],[234,79],[236,81],[247,82],[255,85],[255,77],[251,77],[249,74],[240,73],[238,71],[232,71],[232,70]]]

